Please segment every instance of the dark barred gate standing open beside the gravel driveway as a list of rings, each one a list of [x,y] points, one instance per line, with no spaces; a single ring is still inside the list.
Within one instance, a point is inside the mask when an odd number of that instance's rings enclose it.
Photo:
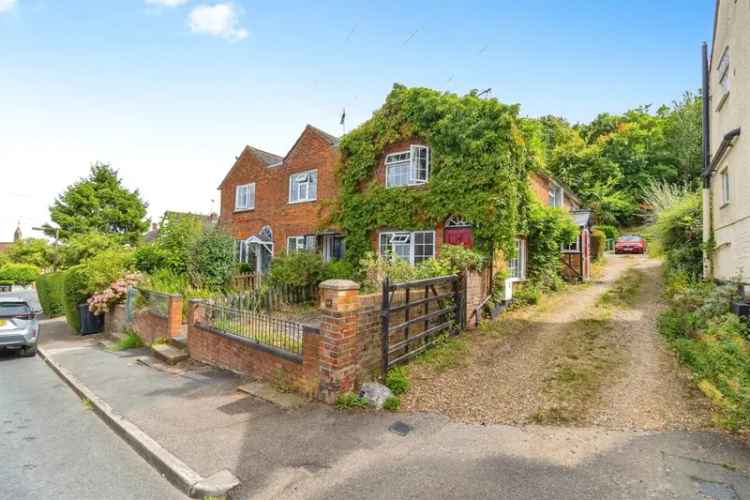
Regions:
[[[383,281],[383,374],[433,346],[440,334],[458,334],[465,325],[463,277],[440,276],[393,283]]]

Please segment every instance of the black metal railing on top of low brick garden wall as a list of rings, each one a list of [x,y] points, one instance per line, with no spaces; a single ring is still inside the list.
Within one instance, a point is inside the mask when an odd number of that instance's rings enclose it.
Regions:
[[[303,326],[296,321],[273,318],[247,309],[203,303],[201,323],[226,335],[284,351],[301,360]]]

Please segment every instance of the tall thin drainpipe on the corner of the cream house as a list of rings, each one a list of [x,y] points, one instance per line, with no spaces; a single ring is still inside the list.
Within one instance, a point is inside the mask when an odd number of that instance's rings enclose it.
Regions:
[[[708,44],[701,47],[703,64],[703,278],[713,278],[713,252],[707,243],[713,240],[714,210],[711,195],[711,98],[709,88]]]

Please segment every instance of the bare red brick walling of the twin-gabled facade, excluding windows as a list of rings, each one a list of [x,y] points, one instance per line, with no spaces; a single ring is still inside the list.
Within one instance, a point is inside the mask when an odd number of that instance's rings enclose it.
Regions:
[[[282,165],[268,167],[245,150],[230,170],[221,189],[220,221],[235,239],[245,239],[264,226],[273,230],[274,254],[286,250],[288,236],[311,234],[321,228],[338,194],[335,176],[338,150],[315,129],[305,128]],[[318,171],[317,200],[289,203],[289,175]],[[235,188],[255,182],[255,208],[235,212]]]

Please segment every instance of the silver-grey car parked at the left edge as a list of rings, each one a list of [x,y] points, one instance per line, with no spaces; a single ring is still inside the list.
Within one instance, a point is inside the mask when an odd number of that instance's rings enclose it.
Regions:
[[[0,297],[0,350],[17,350],[21,356],[36,355],[39,340],[37,313],[18,297]]]

